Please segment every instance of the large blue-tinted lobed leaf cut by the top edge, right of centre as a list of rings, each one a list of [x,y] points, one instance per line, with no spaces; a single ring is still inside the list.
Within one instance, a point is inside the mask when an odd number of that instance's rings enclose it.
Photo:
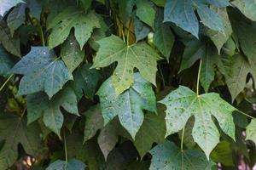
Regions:
[[[224,32],[222,20],[217,13],[207,7],[209,3],[211,1],[169,0],[165,7],[164,21],[173,22],[183,30],[189,31],[192,35],[198,37],[199,23],[194,12],[195,8],[203,25],[214,31]]]

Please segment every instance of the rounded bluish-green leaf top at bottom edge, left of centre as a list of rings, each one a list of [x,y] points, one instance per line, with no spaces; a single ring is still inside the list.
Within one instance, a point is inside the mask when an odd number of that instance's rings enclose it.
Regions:
[[[82,161],[71,159],[69,161],[57,160],[49,165],[46,170],[84,170],[85,164]]]

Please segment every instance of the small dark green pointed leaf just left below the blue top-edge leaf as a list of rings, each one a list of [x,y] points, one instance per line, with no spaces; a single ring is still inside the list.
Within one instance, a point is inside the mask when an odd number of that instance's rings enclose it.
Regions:
[[[172,51],[172,46],[175,38],[172,34],[170,27],[166,24],[160,25],[154,33],[153,37],[154,45],[160,50],[167,60]]]

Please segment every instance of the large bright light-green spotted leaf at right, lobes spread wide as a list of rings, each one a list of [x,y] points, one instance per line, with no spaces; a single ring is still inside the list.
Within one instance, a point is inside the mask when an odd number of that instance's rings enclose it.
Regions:
[[[219,94],[197,95],[189,88],[180,86],[168,94],[160,103],[166,105],[166,136],[183,129],[190,116],[195,116],[192,136],[206,153],[207,157],[219,142],[218,128],[214,116],[224,133],[235,140],[235,124],[232,105],[219,97]]]

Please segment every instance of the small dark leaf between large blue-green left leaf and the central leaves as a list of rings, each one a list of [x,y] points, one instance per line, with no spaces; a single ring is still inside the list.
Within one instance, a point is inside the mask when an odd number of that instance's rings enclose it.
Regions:
[[[73,88],[78,99],[81,99],[84,94],[90,99],[95,95],[101,75],[96,69],[90,69],[90,66],[90,64],[82,65],[74,72]]]

